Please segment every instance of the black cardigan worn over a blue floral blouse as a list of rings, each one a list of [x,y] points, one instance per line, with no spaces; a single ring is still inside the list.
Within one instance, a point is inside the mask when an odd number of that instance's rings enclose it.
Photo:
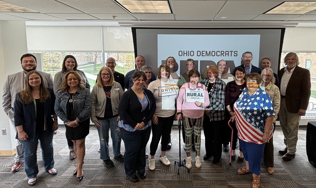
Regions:
[[[144,89],[149,103],[145,110],[142,109],[141,103],[138,101],[137,95],[130,88],[122,94],[119,101],[119,117],[124,121],[124,124],[135,127],[137,123],[144,122],[147,125],[148,121],[155,114],[156,101],[153,93]],[[143,119],[145,117],[145,119]]]

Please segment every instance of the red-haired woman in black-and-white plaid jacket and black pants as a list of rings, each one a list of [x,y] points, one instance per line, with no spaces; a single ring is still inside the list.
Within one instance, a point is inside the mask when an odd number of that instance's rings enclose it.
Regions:
[[[203,130],[205,136],[204,160],[213,156],[213,164],[222,157],[222,125],[225,123],[225,82],[218,78],[216,66],[211,65],[206,70],[206,79],[201,80],[207,88],[210,105],[204,110]]]

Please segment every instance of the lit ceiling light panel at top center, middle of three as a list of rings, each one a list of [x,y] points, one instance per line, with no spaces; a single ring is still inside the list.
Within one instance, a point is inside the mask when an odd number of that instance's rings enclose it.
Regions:
[[[171,13],[168,1],[117,0],[131,13]]]

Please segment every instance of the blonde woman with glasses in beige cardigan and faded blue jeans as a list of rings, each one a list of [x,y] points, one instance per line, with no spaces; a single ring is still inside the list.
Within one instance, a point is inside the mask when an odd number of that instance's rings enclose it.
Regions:
[[[109,153],[109,128],[111,130],[114,159],[124,161],[121,154],[121,136],[118,126],[119,100],[123,89],[114,81],[112,70],[102,67],[99,71],[97,83],[91,92],[91,121],[97,127],[100,139],[100,159],[106,167],[113,167]]]

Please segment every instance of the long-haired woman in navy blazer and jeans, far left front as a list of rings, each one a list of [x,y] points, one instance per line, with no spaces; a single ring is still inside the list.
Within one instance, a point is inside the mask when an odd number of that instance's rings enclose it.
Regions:
[[[36,183],[39,172],[36,155],[39,140],[45,171],[51,175],[57,174],[53,158],[53,132],[58,129],[54,111],[55,95],[42,80],[39,72],[28,72],[24,89],[16,94],[14,103],[14,120],[18,131],[16,139],[21,140],[23,146],[28,185]]]

